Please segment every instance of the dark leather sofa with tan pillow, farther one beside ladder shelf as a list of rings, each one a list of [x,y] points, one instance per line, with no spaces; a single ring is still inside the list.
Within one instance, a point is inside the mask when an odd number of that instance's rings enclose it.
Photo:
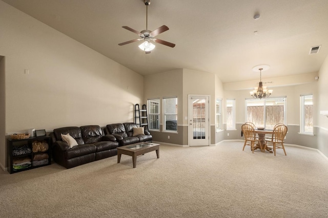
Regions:
[[[106,127],[108,130],[107,134],[113,135],[119,146],[153,140],[148,130],[144,130],[144,135],[133,136],[133,128],[138,127],[135,123],[114,123],[108,124]]]

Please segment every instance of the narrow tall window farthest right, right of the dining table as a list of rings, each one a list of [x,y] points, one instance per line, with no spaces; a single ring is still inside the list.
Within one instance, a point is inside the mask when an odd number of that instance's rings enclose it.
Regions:
[[[313,134],[313,95],[301,95],[300,133]]]

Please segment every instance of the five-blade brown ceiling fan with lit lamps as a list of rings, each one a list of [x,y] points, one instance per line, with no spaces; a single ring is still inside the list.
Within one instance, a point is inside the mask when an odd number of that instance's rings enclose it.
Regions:
[[[149,54],[150,51],[155,48],[155,45],[153,45],[153,43],[151,43],[150,40],[152,40],[154,42],[157,42],[157,43],[160,43],[162,45],[174,48],[175,44],[173,44],[171,42],[168,42],[168,41],[158,39],[158,38],[154,38],[155,36],[159,35],[160,33],[169,30],[169,28],[167,26],[163,25],[163,26],[157,28],[154,31],[148,30],[148,6],[150,4],[150,0],[144,0],[144,3],[146,5],[146,30],[142,30],[142,31],[139,32],[139,31],[136,31],[136,30],[134,30],[130,27],[123,26],[122,28],[138,34],[140,36],[140,38],[136,38],[136,39],[132,39],[130,41],[122,42],[122,43],[119,43],[118,45],[119,46],[124,46],[124,45],[127,45],[127,44],[135,42],[135,41],[144,40],[144,42],[142,42],[142,44],[139,46],[139,48],[141,50],[145,51],[146,54]]]

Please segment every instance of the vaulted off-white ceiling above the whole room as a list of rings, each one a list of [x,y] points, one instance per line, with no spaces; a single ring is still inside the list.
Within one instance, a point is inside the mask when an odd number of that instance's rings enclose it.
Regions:
[[[122,26],[146,29],[144,0],[2,1],[141,75],[185,68],[236,82],[258,79],[258,64],[271,66],[262,78],[314,73],[328,55],[327,0],[151,0],[148,29],[168,26],[157,38],[176,44],[151,54],[117,45],[138,38]]]

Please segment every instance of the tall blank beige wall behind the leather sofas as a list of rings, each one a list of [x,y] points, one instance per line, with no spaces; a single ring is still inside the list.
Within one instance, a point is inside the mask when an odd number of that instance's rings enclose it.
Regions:
[[[133,121],[134,104],[144,101],[143,76],[2,1],[0,27],[0,55],[6,60],[5,77],[0,73],[6,125],[0,136]],[[4,167],[4,139],[0,142]]]

